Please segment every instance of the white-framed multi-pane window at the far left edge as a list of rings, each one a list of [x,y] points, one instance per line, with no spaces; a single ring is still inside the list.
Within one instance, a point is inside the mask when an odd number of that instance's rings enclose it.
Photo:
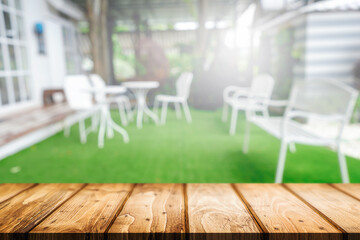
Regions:
[[[31,99],[22,0],[0,1],[0,107]]]

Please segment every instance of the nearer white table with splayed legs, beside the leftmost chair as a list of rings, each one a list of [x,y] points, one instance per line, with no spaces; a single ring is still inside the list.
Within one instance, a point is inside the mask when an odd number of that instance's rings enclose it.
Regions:
[[[111,118],[110,104],[106,101],[106,95],[116,95],[126,92],[126,88],[123,86],[107,86],[105,88],[86,88],[85,91],[93,94],[103,94],[104,99],[97,99],[97,104],[100,107],[100,129],[98,135],[98,147],[104,147],[105,130],[107,130],[107,136],[112,138],[114,136],[114,130],[123,136],[124,142],[129,142],[129,135],[124,128],[116,124]]]

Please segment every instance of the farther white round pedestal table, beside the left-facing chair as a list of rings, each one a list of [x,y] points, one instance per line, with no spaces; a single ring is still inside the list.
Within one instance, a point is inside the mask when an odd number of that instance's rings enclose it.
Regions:
[[[142,128],[144,114],[152,118],[156,124],[159,124],[158,116],[155,113],[153,113],[146,105],[147,93],[151,89],[158,88],[159,83],[155,81],[129,81],[129,82],[124,82],[122,85],[130,89],[136,97],[136,102],[137,102],[136,126],[138,128]]]

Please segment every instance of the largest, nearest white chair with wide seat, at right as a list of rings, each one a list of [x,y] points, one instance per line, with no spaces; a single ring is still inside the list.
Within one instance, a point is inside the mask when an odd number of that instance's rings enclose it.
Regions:
[[[341,152],[344,127],[348,124],[358,93],[355,89],[335,81],[308,80],[298,82],[290,95],[283,117],[251,117],[251,122],[281,140],[276,170],[276,183],[283,179],[289,143],[313,146],[332,146],[337,149],[343,183],[349,182],[345,156]],[[270,103],[271,104],[271,103]],[[250,113],[249,113],[250,114]],[[305,130],[296,119],[337,123],[338,132],[332,138]]]

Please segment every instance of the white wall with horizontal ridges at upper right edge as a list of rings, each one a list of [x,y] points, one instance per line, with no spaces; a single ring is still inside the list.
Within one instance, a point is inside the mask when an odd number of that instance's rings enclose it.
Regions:
[[[360,12],[308,14],[305,48],[306,79],[352,81],[360,60]]]

